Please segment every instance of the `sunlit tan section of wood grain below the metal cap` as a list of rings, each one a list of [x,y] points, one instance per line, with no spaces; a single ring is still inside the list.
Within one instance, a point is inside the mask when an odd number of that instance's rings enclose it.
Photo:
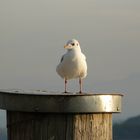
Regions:
[[[76,115],[74,140],[112,140],[112,114]]]

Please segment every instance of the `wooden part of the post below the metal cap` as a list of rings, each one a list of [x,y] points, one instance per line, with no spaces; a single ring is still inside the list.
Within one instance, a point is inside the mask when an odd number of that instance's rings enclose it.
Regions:
[[[112,140],[112,114],[7,111],[8,140]]]

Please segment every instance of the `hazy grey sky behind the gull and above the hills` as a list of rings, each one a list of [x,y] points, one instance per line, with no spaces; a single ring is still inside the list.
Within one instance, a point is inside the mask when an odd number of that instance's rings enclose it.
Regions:
[[[88,63],[84,90],[122,93],[116,120],[140,114],[139,13],[139,0],[0,1],[0,89],[63,91],[55,69],[75,38]]]

